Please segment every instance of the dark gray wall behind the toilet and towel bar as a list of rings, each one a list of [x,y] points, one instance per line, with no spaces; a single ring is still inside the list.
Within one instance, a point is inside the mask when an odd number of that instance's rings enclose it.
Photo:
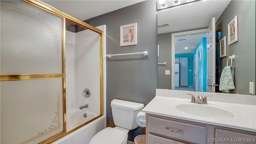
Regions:
[[[143,103],[155,96],[157,88],[156,1],[146,0],[95,18],[92,26],[106,24],[106,53],[123,54],[148,51],[148,56],[116,56],[106,62],[107,126],[114,126],[110,102],[114,99]],[[137,45],[120,47],[120,26],[137,22]],[[130,134],[136,135],[136,134]],[[129,138],[133,140],[133,138]]]

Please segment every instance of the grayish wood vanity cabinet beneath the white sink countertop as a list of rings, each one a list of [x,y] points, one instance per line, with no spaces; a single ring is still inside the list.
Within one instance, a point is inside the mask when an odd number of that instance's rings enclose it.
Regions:
[[[146,114],[146,144],[255,144],[256,132]]]

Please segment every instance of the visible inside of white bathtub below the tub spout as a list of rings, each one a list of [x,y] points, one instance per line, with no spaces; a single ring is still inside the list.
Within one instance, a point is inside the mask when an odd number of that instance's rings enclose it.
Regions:
[[[86,117],[84,117],[84,114],[86,114]],[[88,122],[89,120],[92,120],[95,118],[96,114],[93,114],[92,112],[86,112],[84,110],[73,110],[71,112],[67,112],[66,114],[66,122],[67,122],[67,132],[80,126],[81,124],[84,124]]]

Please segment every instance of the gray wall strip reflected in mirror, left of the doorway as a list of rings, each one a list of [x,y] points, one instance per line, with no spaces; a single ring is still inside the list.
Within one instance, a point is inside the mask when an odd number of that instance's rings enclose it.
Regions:
[[[172,33],[158,34],[158,44],[158,62],[167,63],[166,65],[158,66],[158,88],[171,90],[172,75],[165,75],[165,70],[172,71]]]

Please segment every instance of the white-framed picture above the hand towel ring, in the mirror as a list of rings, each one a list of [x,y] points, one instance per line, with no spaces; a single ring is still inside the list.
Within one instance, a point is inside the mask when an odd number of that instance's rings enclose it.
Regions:
[[[228,45],[238,41],[237,16],[228,23]]]

